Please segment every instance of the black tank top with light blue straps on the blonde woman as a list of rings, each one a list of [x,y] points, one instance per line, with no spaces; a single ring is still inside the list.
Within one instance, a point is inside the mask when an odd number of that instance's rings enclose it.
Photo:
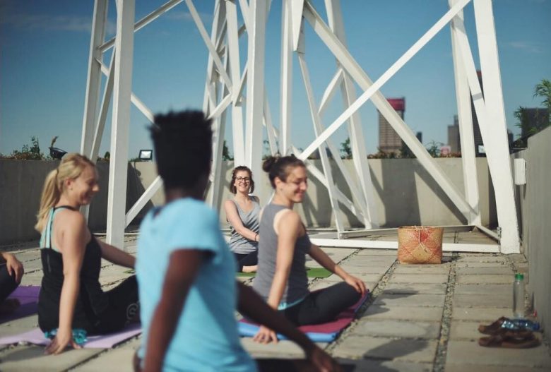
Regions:
[[[42,232],[40,255],[42,258],[42,287],[38,299],[38,325],[44,332],[59,327],[59,301],[63,287],[63,258],[61,253],[52,247],[52,222],[56,210],[69,206],[52,208],[47,225]],[[91,233],[86,244],[81,267],[81,285],[76,299],[72,328],[82,328],[93,332],[99,323],[99,314],[109,306],[109,299],[100,285],[101,247]]]

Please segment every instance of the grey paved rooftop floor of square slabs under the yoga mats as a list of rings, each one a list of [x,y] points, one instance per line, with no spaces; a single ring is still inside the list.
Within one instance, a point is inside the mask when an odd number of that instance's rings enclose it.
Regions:
[[[473,236],[476,240],[476,236]],[[126,250],[136,251],[135,237]],[[25,265],[23,285],[40,285],[42,268],[36,244],[12,247]],[[401,265],[396,251],[324,248],[348,272],[360,277],[372,297],[335,342],[320,344],[345,365],[345,371],[551,371],[547,335],[533,349],[478,346],[478,325],[511,316],[514,272],[528,272],[522,255],[444,253],[441,265]],[[129,274],[103,262],[100,282],[109,289]],[[315,267],[310,260],[307,265]],[[249,278],[239,278],[250,283]],[[332,275],[314,279],[312,289],[338,282]],[[529,280],[529,278],[527,278]],[[0,335],[37,327],[37,316],[0,325]],[[134,337],[113,349],[69,350],[45,356],[32,345],[0,347],[0,371],[131,371],[131,357],[141,342]],[[292,342],[261,345],[242,339],[253,356],[299,357]]]

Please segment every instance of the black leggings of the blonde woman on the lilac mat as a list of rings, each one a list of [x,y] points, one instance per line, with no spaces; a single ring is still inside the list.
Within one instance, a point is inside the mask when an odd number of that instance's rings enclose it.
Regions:
[[[99,321],[91,334],[105,334],[122,330],[139,313],[138,282],[132,275],[117,287],[105,292],[109,307],[98,315]]]

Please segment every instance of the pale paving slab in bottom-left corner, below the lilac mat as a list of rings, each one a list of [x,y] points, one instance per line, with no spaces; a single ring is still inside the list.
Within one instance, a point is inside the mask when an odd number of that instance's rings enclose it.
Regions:
[[[102,351],[103,349],[70,349],[59,355],[45,355],[44,347],[17,346],[0,353],[0,370],[3,372],[65,371]]]

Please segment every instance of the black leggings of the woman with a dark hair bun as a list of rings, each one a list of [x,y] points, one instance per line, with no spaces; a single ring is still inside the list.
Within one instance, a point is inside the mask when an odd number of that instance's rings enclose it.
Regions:
[[[360,300],[360,296],[362,294],[350,284],[340,282],[310,292],[300,303],[280,310],[280,313],[295,325],[327,323]]]

